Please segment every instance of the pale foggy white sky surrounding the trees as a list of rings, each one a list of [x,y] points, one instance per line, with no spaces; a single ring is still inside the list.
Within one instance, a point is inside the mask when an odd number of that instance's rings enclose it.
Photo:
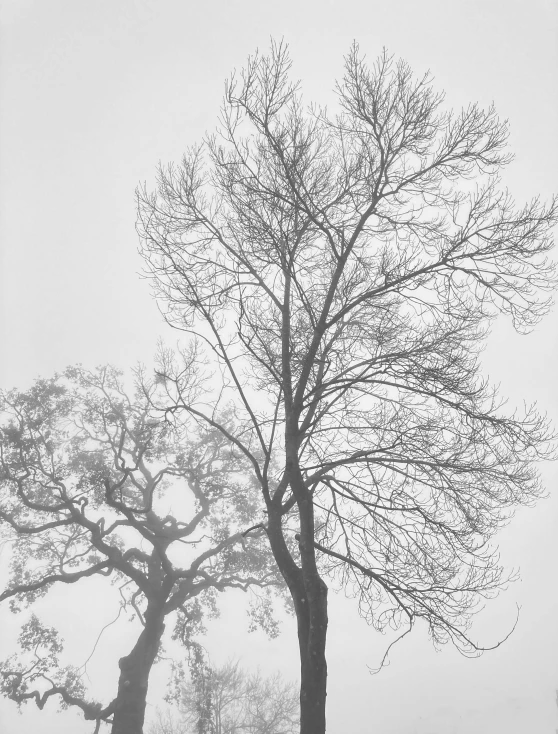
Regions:
[[[505,183],[519,200],[556,188],[554,0],[3,0],[1,23],[3,387],[75,362],[148,362],[159,334],[174,341],[137,276],[134,188],[151,179],[159,160],[178,159],[213,126],[225,77],[256,47],[265,49],[271,35],[289,42],[308,101],[330,99],[354,38],[372,58],[386,46],[417,73],[430,69],[452,105],[494,101],[511,122],[516,154]],[[502,323],[485,360],[512,402],[537,400],[555,422],[557,324],[554,312],[535,334],[518,338]],[[473,629],[480,641],[495,641],[520,604],[519,627],[499,650],[478,660],[450,648],[435,653],[419,629],[395,649],[388,669],[370,677],[366,664],[378,663],[386,638],[358,619],[353,604],[332,600],[332,734],[555,730],[557,474],[545,471],[551,498],[522,511],[502,535],[504,560],[521,566],[522,581]],[[292,622],[273,644],[244,636],[241,600],[229,597],[208,639],[214,658],[243,656],[248,665],[296,676]],[[102,626],[114,606],[94,586],[83,587],[77,611],[74,598],[72,588],[48,613],[55,621],[62,611],[69,647],[82,662],[97,616]],[[19,621],[0,612],[0,657]],[[90,665],[106,699],[115,651],[126,653],[131,632],[112,628]],[[154,696],[164,690],[164,671],[155,678]],[[0,701],[6,734],[91,728],[72,714],[18,716]]]

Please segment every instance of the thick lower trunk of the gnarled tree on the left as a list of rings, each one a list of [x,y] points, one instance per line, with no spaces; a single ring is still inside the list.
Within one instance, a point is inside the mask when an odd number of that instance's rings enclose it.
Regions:
[[[112,734],[142,734],[149,673],[165,629],[163,606],[148,604],[145,627],[133,650],[119,661],[120,678]]]

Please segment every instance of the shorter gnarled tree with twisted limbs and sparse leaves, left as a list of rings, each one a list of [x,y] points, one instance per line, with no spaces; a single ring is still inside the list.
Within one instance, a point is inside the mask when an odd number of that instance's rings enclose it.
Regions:
[[[59,633],[35,615],[23,625],[21,653],[0,663],[0,689],[40,709],[59,697],[95,732],[108,722],[114,734],[142,731],[169,615],[175,637],[191,644],[218,591],[280,580],[257,532],[244,532],[257,499],[244,457],[209,426],[156,418],[157,385],[140,383],[130,397],[115,370],[77,368],[0,396],[0,530],[13,536],[0,601],[18,612],[57,584],[105,576],[117,584],[120,612],[141,623],[106,706],[86,698],[84,670],[61,663]],[[173,501],[186,516],[172,514]]]

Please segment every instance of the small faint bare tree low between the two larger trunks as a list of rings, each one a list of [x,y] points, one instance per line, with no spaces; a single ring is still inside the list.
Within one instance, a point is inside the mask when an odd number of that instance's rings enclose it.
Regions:
[[[203,658],[188,680],[177,668],[172,700],[181,719],[160,715],[149,734],[295,734],[300,712],[296,687],[279,673],[247,673],[238,662],[212,667]]]

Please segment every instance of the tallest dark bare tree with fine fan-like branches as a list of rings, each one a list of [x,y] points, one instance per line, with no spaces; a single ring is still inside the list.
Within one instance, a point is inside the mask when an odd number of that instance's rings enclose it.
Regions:
[[[301,731],[323,734],[324,575],[376,628],[422,619],[479,649],[470,615],[506,579],[489,541],[541,494],[550,449],[478,354],[498,314],[522,332],[546,313],[557,205],[517,207],[506,124],[445,111],[404,62],[353,46],[336,114],[305,107],[289,69],[279,44],[233,76],[217,133],[139,189],[139,232],[167,321],[221,377],[191,400],[163,358],[168,410],[251,463],[298,620]]]

